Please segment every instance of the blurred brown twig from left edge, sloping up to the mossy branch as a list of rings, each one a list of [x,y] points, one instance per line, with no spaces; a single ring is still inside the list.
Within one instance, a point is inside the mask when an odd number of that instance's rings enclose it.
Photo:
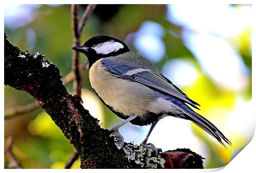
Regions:
[[[31,110],[35,110],[35,109],[38,109],[40,108],[40,106],[38,105],[37,102],[34,102],[34,103],[30,103],[28,105],[25,105],[25,106],[20,106],[16,109],[9,109],[5,112],[5,119],[9,119],[9,118],[12,118],[14,116],[17,116],[17,115],[22,115],[22,114],[25,114],[27,112],[30,112]]]

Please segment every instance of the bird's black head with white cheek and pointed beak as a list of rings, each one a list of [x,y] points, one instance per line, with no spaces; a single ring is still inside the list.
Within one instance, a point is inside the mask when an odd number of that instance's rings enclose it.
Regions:
[[[103,35],[92,37],[83,46],[76,46],[72,49],[82,52],[87,56],[89,67],[101,58],[117,56],[130,51],[124,42]]]

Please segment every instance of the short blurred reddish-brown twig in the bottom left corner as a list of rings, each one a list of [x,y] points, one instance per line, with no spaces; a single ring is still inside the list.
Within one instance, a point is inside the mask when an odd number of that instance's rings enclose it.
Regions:
[[[8,168],[22,169],[21,163],[19,162],[17,157],[14,156],[14,154],[12,152],[12,137],[11,136],[9,136],[6,140],[5,155],[9,159]]]

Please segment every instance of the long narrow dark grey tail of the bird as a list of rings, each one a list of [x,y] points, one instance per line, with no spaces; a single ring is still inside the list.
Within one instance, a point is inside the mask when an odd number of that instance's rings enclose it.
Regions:
[[[186,109],[180,107],[179,105],[174,104],[181,112],[183,112],[186,119],[192,121],[194,124],[199,126],[201,129],[209,133],[213,136],[218,142],[223,145],[225,148],[225,144],[222,140],[224,140],[228,145],[232,145],[231,142],[226,138],[223,133],[211,122],[209,122],[206,118],[202,117],[201,115],[194,112],[191,108],[186,105]],[[183,117],[184,118],[184,117]]]

